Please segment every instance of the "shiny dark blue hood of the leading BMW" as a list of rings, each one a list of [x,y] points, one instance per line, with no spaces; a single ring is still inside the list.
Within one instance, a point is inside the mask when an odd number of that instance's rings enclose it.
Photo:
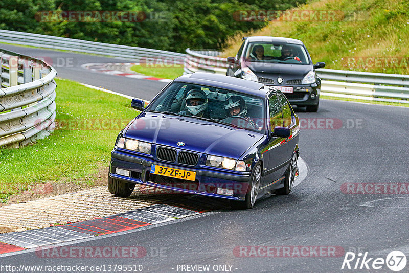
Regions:
[[[238,159],[263,135],[190,117],[142,113],[128,124],[125,137]],[[185,145],[179,147],[178,142]]]

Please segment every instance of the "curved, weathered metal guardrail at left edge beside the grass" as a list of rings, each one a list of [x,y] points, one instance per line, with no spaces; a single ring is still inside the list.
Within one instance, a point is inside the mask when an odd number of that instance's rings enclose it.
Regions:
[[[0,147],[22,147],[54,130],[56,75],[47,63],[0,49]]]

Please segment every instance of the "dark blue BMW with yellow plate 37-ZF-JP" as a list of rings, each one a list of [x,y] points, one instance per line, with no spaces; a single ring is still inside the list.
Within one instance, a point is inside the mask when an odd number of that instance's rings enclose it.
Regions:
[[[299,156],[299,119],[279,90],[223,75],[194,73],[169,83],[119,133],[109,192],[135,184],[226,198],[252,208],[267,192],[289,194]]]

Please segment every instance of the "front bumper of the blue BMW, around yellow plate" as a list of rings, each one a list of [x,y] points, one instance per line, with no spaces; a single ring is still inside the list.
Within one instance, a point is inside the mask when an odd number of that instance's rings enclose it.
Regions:
[[[196,180],[187,181],[151,174],[150,168],[152,164],[194,171],[196,172]],[[116,174],[116,168],[129,170],[130,176]],[[237,175],[223,172],[223,170],[216,172],[198,168],[186,168],[185,166],[182,167],[176,164],[157,161],[154,158],[147,160],[147,158],[128,155],[116,150],[111,152],[109,176],[126,181],[127,183],[166,189],[166,192],[171,193],[191,193],[231,200],[244,200],[251,179],[251,173],[249,172]],[[234,190],[233,195],[217,194],[218,187]]]

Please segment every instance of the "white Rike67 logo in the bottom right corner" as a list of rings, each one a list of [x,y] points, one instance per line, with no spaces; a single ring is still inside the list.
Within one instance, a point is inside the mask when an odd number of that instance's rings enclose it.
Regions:
[[[344,257],[341,269],[381,269],[386,264],[392,271],[401,271],[406,266],[406,256],[401,251],[392,251],[386,259],[368,258],[368,252],[365,254],[347,252]]]

